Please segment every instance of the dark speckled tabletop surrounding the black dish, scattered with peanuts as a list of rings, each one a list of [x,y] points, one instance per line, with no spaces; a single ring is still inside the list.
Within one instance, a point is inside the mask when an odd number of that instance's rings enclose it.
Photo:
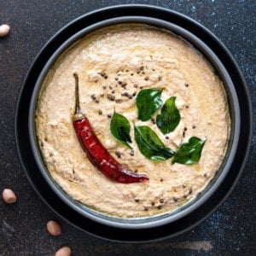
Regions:
[[[228,200],[193,230],[159,242],[121,244],[77,230],[44,205],[27,181],[15,149],[17,97],[38,51],[67,22],[91,10],[119,3],[148,3],[174,9],[207,26],[234,55],[253,101],[250,154]],[[253,0],[0,1],[0,24],[9,23],[12,27],[8,37],[0,38],[0,190],[9,187],[18,196],[15,205],[0,200],[0,254],[53,255],[62,245],[72,247],[74,255],[256,254],[255,8]],[[46,223],[52,218],[60,221],[61,236],[53,237],[46,231]]]

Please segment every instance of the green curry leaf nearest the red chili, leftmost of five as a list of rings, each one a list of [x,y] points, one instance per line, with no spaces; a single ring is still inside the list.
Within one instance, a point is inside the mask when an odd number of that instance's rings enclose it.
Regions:
[[[110,131],[116,139],[118,139],[121,143],[124,143],[126,146],[131,148],[131,125],[129,121],[125,118],[125,116],[116,113],[114,111],[113,117],[110,121]]]

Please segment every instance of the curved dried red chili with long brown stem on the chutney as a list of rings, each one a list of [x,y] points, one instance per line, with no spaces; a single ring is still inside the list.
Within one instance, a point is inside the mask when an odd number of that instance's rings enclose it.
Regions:
[[[90,162],[104,175],[119,183],[140,183],[144,180],[148,180],[146,175],[132,172],[125,166],[122,166],[109,154],[108,150],[104,148],[96,137],[89,120],[79,107],[79,76],[77,73],[74,73],[73,76],[76,82],[76,104],[73,115],[73,126],[79,138],[79,142]]]

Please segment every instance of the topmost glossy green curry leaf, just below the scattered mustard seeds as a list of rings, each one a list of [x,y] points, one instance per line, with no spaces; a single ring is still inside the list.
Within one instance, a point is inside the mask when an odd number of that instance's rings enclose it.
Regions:
[[[138,109],[138,119],[147,121],[152,117],[156,110],[163,105],[160,99],[162,90],[144,89],[136,97]]]

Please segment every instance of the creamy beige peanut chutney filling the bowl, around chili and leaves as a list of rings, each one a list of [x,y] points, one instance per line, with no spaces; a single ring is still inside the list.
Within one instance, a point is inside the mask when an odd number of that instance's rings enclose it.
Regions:
[[[73,129],[74,80],[79,73],[80,107],[96,136],[113,157],[143,183],[118,183],[87,159]],[[138,119],[136,97],[161,90],[165,102],[176,97],[180,121],[163,134],[156,116]],[[110,131],[114,111],[131,124],[131,148]],[[206,58],[170,32],[143,25],[109,26],[69,47],[44,79],[36,110],[38,145],[55,182],[67,195],[97,212],[119,218],[170,212],[201,193],[224,160],[230,113],[222,81]],[[148,125],[174,151],[190,137],[206,143],[193,165],[149,160],[139,150],[134,125]]]

